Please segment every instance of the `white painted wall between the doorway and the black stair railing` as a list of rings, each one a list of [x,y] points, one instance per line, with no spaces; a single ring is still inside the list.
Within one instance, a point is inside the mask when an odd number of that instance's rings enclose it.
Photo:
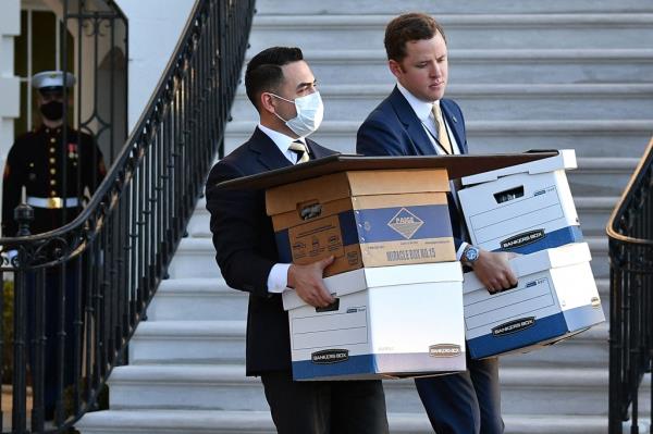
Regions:
[[[128,20],[130,132],[170,60],[195,1],[116,0]]]

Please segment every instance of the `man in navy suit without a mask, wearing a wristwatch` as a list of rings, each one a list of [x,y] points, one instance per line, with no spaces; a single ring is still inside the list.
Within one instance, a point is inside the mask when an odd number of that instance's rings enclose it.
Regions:
[[[429,15],[410,13],[385,29],[392,94],[358,129],[356,149],[365,156],[467,153],[465,120],[458,104],[443,99],[447,47],[442,27]],[[493,293],[517,281],[506,253],[480,250],[464,241],[461,219],[449,197],[457,257]],[[438,434],[503,433],[496,358],[469,360],[464,373],[416,380],[417,390]]]

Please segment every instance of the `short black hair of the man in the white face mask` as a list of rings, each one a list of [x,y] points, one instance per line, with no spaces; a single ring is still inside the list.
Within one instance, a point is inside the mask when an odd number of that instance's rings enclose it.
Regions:
[[[260,95],[276,91],[283,84],[281,66],[300,60],[304,60],[304,54],[296,47],[271,47],[251,58],[245,71],[245,89],[257,110]]]

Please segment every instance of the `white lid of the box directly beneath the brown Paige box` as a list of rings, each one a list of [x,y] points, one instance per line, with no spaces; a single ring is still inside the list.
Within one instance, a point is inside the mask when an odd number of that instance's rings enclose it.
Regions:
[[[460,262],[362,268],[324,278],[326,289],[334,297],[379,286],[411,285],[426,282],[463,282]],[[295,289],[286,288],[282,293],[282,297],[285,310],[306,306]]]

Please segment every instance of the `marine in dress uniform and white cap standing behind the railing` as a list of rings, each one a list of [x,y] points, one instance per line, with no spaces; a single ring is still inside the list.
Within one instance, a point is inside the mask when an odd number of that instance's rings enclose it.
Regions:
[[[71,88],[75,78],[70,73],[46,71],[34,75],[32,85],[38,90],[38,106],[42,124],[34,132],[19,137],[7,158],[2,186],[2,236],[16,236],[19,225],[14,221],[14,209],[25,202],[34,209],[30,234],[53,231],[73,221],[83,210],[84,202],[99,186],[107,170],[102,153],[94,138],[83,132],[64,128],[64,86]],[[65,131],[64,131],[65,129]],[[63,273],[63,276],[62,276]],[[65,389],[74,382],[74,321],[75,308],[84,306],[84,286],[78,282],[78,263],[46,271],[45,287],[36,285],[36,274],[26,273],[27,287],[27,334],[29,338],[29,364],[36,360],[39,344],[35,331],[35,300],[45,290],[45,372],[44,405],[45,419],[53,419],[59,402],[63,409]],[[61,287],[61,282],[65,282]],[[84,280],[84,276],[82,277]],[[61,330],[61,298],[64,297],[64,364],[58,365],[59,331]],[[77,336],[77,338],[79,338]],[[81,361],[77,361],[81,365]],[[62,389],[58,390],[58,377],[63,371]],[[35,375],[32,368],[33,379]]]

